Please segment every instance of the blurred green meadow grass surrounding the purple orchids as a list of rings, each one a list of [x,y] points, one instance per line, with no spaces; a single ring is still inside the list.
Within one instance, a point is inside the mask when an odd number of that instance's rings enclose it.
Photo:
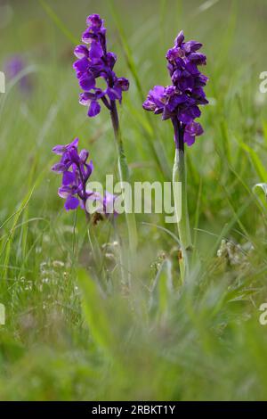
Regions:
[[[267,183],[264,0],[205,11],[193,0],[10,3],[0,63],[25,54],[34,90],[26,97],[15,80],[0,97],[0,398],[266,400],[266,187],[254,189]],[[93,180],[117,176],[109,115],[88,119],[77,103],[72,42],[91,12],[105,18],[117,74],[130,78],[119,116],[134,180],[171,180],[171,123],[142,100],[168,83],[164,57],[180,29],[205,45],[205,134],[186,149],[199,260],[183,285],[176,228],[162,216],[137,216],[129,289],[122,263],[132,255],[113,226],[92,226],[89,240],[83,212],[65,213],[57,195],[51,149],[75,136]],[[124,216],[118,231],[125,238]]]

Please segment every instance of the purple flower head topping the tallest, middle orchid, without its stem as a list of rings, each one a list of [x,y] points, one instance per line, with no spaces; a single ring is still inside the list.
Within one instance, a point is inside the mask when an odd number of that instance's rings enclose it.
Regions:
[[[77,45],[74,53],[77,62],[73,67],[81,89],[79,102],[88,107],[88,116],[94,117],[101,111],[101,102],[111,110],[111,103],[122,101],[122,92],[128,90],[129,81],[126,78],[117,78],[113,67],[117,61],[115,53],[107,51],[106,29],[98,14],[91,14],[86,20],[88,28],[85,30],[82,41],[87,45]],[[106,88],[96,86],[97,78],[103,78]]]

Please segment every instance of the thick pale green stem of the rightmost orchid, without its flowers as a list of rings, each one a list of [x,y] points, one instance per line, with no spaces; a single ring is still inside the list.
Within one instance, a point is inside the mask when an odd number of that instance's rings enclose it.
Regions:
[[[172,119],[174,125],[175,157],[173,169],[174,208],[177,217],[179,239],[182,246],[182,258],[180,259],[181,277],[184,281],[186,267],[190,265],[192,254],[192,240],[190,233],[190,220],[187,203],[187,176],[184,159],[184,125],[177,119]],[[181,192],[176,183],[181,182]],[[182,195],[182,196],[181,196]]]

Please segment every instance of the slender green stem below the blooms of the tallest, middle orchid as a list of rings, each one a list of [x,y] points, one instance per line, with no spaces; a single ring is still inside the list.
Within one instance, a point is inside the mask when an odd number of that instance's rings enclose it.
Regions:
[[[130,182],[130,173],[125,158],[125,151],[122,141],[122,136],[120,132],[118,116],[117,116],[117,106],[115,101],[110,101],[110,116],[112,120],[112,125],[114,129],[114,135],[117,144],[117,154],[118,154],[118,173],[121,184],[123,182]],[[126,203],[126,202],[125,202]],[[137,249],[137,231],[136,231],[136,222],[134,211],[131,209],[130,212],[125,210],[125,218],[128,229],[128,239],[129,239],[129,248],[134,257]]]

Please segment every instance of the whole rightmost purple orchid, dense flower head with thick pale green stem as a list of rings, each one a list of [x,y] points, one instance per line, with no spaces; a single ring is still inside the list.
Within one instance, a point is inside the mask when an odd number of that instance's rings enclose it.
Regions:
[[[203,134],[203,128],[195,119],[201,115],[199,106],[208,103],[203,89],[206,86],[207,78],[198,70],[199,65],[206,64],[206,55],[198,52],[201,46],[202,44],[197,41],[184,42],[184,35],[181,31],[175,38],[174,47],[166,53],[167,69],[172,84],[166,87],[154,86],[142,105],[146,111],[161,114],[162,119],[171,119],[174,126],[173,191],[182,249],[180,260],[182,281],[187,275],[184,259],[187,260],[188,268],[192,255],[184,143],[192,145],[195,143],[196,136]],[[181,196],[175,187],[177,183],[182,185],[182,204]],[[180,208],[181,212],[179,212]]]

